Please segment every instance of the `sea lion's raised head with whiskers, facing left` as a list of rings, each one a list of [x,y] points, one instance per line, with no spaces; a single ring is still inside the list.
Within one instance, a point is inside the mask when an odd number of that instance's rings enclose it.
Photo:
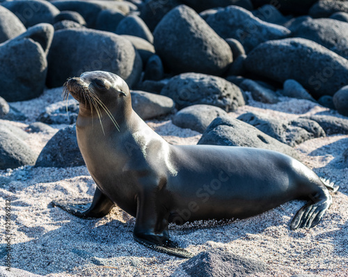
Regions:
[[[80,104],[84,116],[97,114],[99,118],[122,117],[132,111],[132,102],[126,82],[116,74],[105,71],[84,72],[64,84],[65,97],[69,94]]]

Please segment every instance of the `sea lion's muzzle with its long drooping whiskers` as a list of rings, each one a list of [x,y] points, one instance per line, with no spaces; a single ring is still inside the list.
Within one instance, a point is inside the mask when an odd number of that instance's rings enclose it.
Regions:
[[[109,109],[106,107],[106,105],[102,102],[102,100],[97,97],[95,92],[92,88],[89,88],[86,83],[81,78],[70,78],[63,84],[64,90],[63,90],[63,100],[67,100],[68,105],[68,97],[69,94],[74,97],[75,100],[77,100],[80,105],[84,104],[84,106],[88,109],[90,109],[91,116],[93,118],[93,111],[97,113],[97,116],[100,121],[100,125],[102,126],[102,131],[104,132],[104,127],[102,125],[102,111],[104,110],[107,114],[107,116],[111,119],[111,122],[113,122],[113,125],[115,125],[116,129],[120,131],[120,126],[116,122],[115,118],[113,118],[112,113],[109,111]],[[68,106],[67,106],[67,112],[68,112]]]

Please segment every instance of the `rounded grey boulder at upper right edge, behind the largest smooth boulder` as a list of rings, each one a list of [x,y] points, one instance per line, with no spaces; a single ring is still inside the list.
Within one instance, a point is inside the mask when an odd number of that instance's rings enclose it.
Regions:
[[[343,58],[348,58],[347,22],[329,18],[310,19],[302,22],[292,35],[317,42]]]

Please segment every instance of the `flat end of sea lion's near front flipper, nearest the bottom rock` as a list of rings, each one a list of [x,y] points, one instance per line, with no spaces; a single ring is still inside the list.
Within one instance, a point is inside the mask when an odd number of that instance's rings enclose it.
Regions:
[[[180,248],[176,242],[171,241],[171,239],[165,239],[164,237],[159,237],[155,235],[133,235],[136,242],[143,244],[144,246],[151,248],[155,251],[161,253],[166,253],[168,255],[173,255],[178,258],[192,258],[193,254],[186,251],[184,248]]]

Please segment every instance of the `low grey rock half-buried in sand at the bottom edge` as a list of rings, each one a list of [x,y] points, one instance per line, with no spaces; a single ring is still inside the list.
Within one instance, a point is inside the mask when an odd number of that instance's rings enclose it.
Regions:
[[[190,277],[243,277],[268,270],[264,262],[216,249],[199,253],[181,266]]]

